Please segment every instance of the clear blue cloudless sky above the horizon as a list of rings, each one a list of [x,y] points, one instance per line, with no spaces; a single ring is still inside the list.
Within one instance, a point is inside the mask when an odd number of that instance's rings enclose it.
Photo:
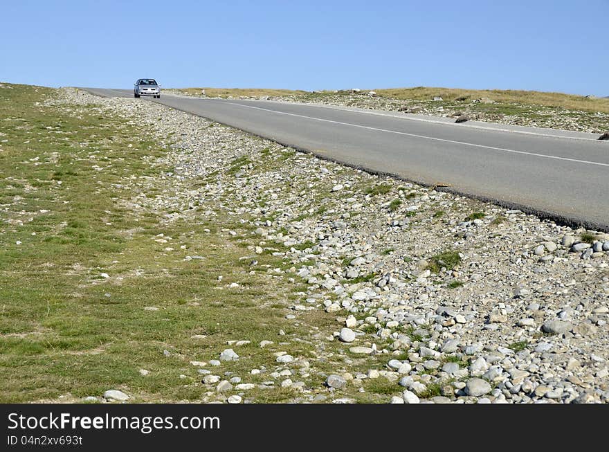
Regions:
[[[609,0],[3,0],[0,81],[609,96]]]

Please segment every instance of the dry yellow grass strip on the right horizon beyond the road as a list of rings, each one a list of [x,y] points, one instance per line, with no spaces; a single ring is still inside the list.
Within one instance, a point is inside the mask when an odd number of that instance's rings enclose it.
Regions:
[[[468,100],[491,98],[496,102],[543,105],[545,107],[562,107],[569,110],[602,111],[609,113],[609,99],[585,98],[564,93],[544,93],[540,91],[515,91],[501,89],[452,89],[452,88],[394,88],[375,89],[379,96],[394,99],[430,100],[442,96],[444,100],[456,100],[466,97]]]

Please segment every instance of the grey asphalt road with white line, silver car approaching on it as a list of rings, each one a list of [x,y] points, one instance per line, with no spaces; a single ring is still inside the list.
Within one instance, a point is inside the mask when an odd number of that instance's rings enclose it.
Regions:
[[[87,89],[133,97],[130,90]],[[609,231],[609,142],[597,134],[289,102],[160,102],[322,158]]]

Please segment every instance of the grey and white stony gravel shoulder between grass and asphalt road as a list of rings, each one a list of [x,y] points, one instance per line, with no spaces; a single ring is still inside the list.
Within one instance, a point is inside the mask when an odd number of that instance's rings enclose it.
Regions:
[[[217,246],[238,255],[230,280],[214,275],[217,290],[254,276],[249,289],[274,289],[255,301],[278,316],[268,336],[224,332],[230,342],[181,353],[194,362],[188,372],[166,350],[163,372],[184,374],[197,401],[609,400],[608,235],[346,168],[153,102],[71,89],[57,102],[144,125],[163,152],[142,170],[150,181],[131,185],[133,215],[160,215],[165,235],[211,225]],[[163,190],[141,196],[159,181]],[[207,252],[179,251],[180,265]],[[134,386],[107,389],[141,397]]]

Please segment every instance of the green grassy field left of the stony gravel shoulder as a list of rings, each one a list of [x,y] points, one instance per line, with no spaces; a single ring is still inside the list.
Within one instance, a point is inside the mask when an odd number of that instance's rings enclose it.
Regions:
[[[170,221],[188,205],[136,207],[144,195],[172,197],[201,181],[173,187],[162,177],[171,168],[156,163],[166,150],[136,121],[98,105],[48,105],[56,95],[0,88],[0,402],[82,401],[108,389],[136,402],[226,400],[234,392],[216,395],[191,361],[217,359],[234,340],[251,341],[234,346],[238,361],[207,366],[222,378],[233,372],[247,383],[268,381],[268,372],[250,371],[275,370],[273,353],[284,351],[311,361],[311,372],[293,379],[325,392],[325,372],[349,358],[325,339],[340,329],[335,316],[315,309],[287,320],[305,287],[289,282],[289,273],[266,271],[285,266],[270,253],[258,255],[260,271],[251,271],[240,257],[255,237],[220,209],[213,219],[194,209]],[[260,171],[265,159],[275,159],[273,168],[283,161],[266,149]],[[261,348],[263,340],[273,344]],[[372,356],[351,359],[352,371],[384,365]],[[386,402],[387,388],[366,384],[365,394],[349,387],[345,395]],[[246,395],[297,397],[279,387]]]

